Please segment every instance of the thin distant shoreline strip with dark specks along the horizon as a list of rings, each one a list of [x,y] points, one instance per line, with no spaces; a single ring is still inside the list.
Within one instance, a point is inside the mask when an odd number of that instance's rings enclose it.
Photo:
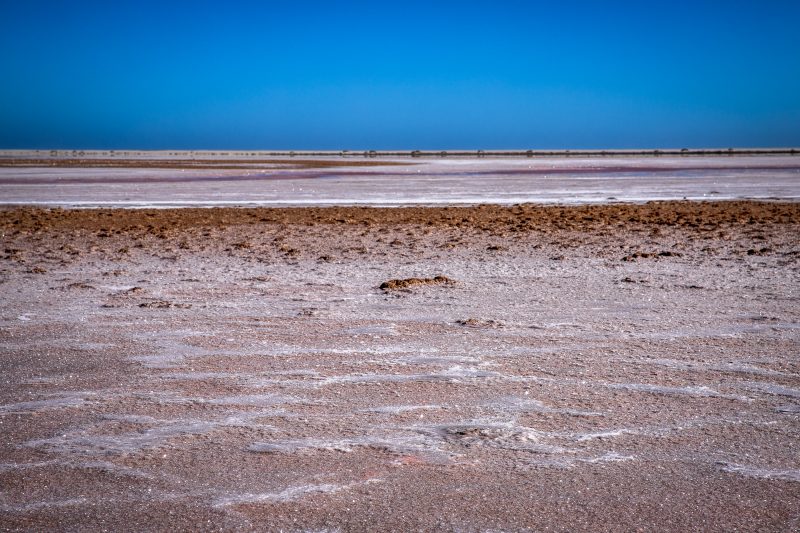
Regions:
[[[483,157],[661,157],[800,155],[800,148],[655,148],[633,150],[0,150],[1,159],[75,158],[483,158]]]

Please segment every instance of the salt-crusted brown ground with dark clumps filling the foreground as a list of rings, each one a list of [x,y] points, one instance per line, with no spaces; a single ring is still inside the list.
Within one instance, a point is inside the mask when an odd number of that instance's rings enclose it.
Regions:
[[[800,204],[0,235],[1,529],[800,528]]]

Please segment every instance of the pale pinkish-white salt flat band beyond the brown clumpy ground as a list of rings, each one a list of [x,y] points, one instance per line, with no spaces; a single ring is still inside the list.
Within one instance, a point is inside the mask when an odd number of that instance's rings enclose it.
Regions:
[[[292,158],[283,160],[291,165]],[[392,166],[310,170],[274,165],[267,170],[0,167],[0,202],[169,208],[800,198],[800,156],[389,158],[384,162]]]

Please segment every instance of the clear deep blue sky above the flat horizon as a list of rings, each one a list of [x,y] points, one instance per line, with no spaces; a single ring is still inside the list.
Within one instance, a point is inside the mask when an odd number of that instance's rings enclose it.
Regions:
[[[800,145],[800,1],[0,3],[0,148]]]

